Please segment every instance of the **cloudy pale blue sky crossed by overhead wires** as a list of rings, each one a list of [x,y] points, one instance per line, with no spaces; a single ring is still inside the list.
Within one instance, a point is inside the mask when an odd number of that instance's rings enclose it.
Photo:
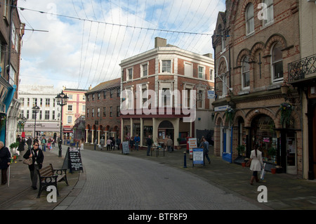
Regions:
[[[119,63],[154,48],[154,37],[213,53],[225,0],[19,0],[20,84],[87,89],[120,77]]]

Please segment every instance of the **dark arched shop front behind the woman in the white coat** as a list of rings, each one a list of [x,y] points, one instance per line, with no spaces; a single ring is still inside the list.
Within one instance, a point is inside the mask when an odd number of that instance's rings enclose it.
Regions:
[[[282,173],[297,174],[297,140],[295,120],[290,119],[284,128],[276,129],[275,121],[260,114],[251,121],[251,127],[241,131],[239,142],[246,142],[246,157],[250,156],[255,145],[261,150],[266,169],[279,167]],[[244,133],[248,133],[244,135]]]

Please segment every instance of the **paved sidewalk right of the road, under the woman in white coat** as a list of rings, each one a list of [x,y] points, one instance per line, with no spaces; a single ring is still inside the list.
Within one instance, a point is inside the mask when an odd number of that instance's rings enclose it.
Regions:
[[[86,150],[94,150],[93,145],[85,145]],[[98,147],[96,150],[100,151]],[[121,154],[121,151],[107,151],[105,153]],[[177,169],[182,169],[185,172],[192,173],[199,178],[202,178],[212,185],[216,185],[223,190],[233,192],[249,202],[258,202],[258,187],[265,185],[268,189],[268,202],[260,203],[263,206],[268,206],[270,209],[287,210],[287,209],[316,209],[316,180],[301,180],[296,176],[286,173],[272,174],[267,172],[265,179],[259,183],[254,182],[250,185],[252,172],[249,167],[242,167],[237,164],[230,164],[223,161],[220,157],[213,155],[213,147],[210,147],[211,164],[206,162],[205,166],[192,166],[192,160],[187,154],[186,165],[184,166],[184,153],[186,150],[175,150],[173,152],[152,152],[152,156],[146,156],[146,150],[130,151],[129,154],[122,156],[140,157],[150,159],[151,161],[160,164],[166,164]],[[159,172],[159,171],[157,171]]]

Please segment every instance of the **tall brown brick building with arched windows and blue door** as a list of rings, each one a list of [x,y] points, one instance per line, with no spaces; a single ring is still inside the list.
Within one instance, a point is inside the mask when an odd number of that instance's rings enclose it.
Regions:
[[[298,21],[296,0],[230,0],[218,13],[214,152],[226,161],[236,161],[238,145],[249,157],[257,144],[268,169],[303,176],[298,92],[282,94],[288,64],[301,56]]]

